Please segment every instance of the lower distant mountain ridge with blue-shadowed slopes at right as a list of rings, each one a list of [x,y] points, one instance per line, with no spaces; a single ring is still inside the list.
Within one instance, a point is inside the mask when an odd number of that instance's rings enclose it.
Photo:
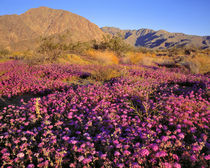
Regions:
[[[153,49],[166,49],[171,47],[194,46],[210,48],[210,36],[186,35],[183,33],[170,33],[165,30],[151,29],[121,30],[115,27],[102,27],[106,33],[116,35],[120,33],[126,43]]]

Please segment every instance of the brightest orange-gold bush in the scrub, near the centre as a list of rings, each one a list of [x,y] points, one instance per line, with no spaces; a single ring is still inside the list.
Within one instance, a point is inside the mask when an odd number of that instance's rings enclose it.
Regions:
[[[113,51],[100,51],[100,50],[87,50],[86,55],[90,56],[92,59],[95,59],[99,64],[118,64],[119,59]]]

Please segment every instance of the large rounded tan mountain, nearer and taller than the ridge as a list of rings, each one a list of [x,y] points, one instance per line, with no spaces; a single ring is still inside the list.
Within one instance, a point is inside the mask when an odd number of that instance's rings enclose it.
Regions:
[[[104,33],[95,24],[74,13],[47,7],[33,8],[21,15],[0,16],[0,47],[36,47],[40,37],[65,35],[68,41],[100,40]]]

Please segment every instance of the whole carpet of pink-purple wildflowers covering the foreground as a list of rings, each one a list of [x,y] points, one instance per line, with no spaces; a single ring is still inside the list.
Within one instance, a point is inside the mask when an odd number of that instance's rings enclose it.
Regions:
[[[210,78],[115,66],[0,63],[0,97],[32,96],[0,108],[0,167],[208,167]]]

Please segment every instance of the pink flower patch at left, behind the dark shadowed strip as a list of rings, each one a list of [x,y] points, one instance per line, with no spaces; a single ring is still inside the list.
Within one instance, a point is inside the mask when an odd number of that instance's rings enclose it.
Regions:
[[[28,66],[17,61],[0,63],[0,72],[0,96],[8,98],[26,93],[46,95],[63,90],[67,86],[66,81],[83,73],[78,66]]]

